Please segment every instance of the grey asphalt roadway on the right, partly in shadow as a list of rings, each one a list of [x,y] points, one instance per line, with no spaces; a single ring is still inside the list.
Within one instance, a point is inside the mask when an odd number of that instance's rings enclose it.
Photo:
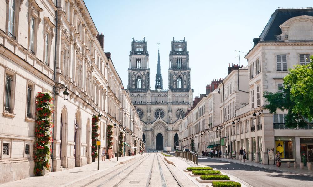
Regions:
[[[214,158],[199,158],[199,163],[233,175],[254,187],[313,186],[313,177],[306,175],[279,172],[250,165],[221,161]]]

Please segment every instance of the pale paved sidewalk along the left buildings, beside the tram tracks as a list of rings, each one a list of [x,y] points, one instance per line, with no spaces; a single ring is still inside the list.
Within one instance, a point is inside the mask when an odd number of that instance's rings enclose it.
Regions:
[[[111,159],[111,161],[105,159],[105,161],[100,160],[100,170],[98,171],[98,160],[96,159],[95,162],[91,164],[87,164],[82,167],[75,167],[73,169],[58,171],[58,172],[49,172],[44,176],[36,176],[36,177],[29,177],[26,179],[16,180],[8,183],[4,183],[0,185],[0,187],[16,187],[16,186],[23,186],[23,187],[33,187],[33,186],[47,186],[47,187],[59,187],[59,186],[67,186],[77,182],[79,180],[88,178],[92,175],[96,175],[102,171],[108,170],[110,168],[113,169],[116,165],[120,165],[120,162],[133,159],[139,159],[141,156],[145,156],[146,154],[140,155],[136,154],[136,156],[125,156],[119,157],[119,161],[117,161],[117,157]]]

